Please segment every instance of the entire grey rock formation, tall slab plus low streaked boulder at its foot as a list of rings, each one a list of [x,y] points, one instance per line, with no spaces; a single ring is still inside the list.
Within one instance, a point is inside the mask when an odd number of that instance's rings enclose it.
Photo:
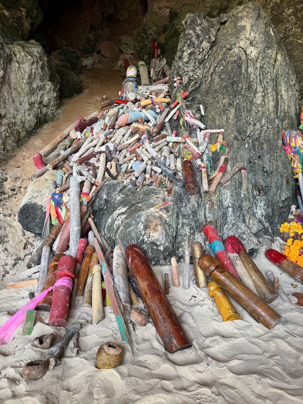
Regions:
[[[195,239],[205,241],[198,228],[206,218],[217,222],[222,239],[238,236],[254,255],[260,243],[269,243],[279,233],[295,198],[280,135],[284,128],[297,127],[295,75],[284,45],[255,2],[215,19],[189,14],[184,25],[171,67],[172,99],[176,99],[173,79],[181,76],[184,90],[190,91],[189,109],[207,128],[225,129],[228,168],[239,161],[246,167],[248,194],[240,192],[239,172],[227,185],[218,186],[209,206],[207,195],[187,196],[184,188],[174,187],[175,204],[163,219],[152,209],[162,202],[161,189],[145,186],[137,192],[111,181],[101,189],[93,214],[111,246],[118,238],[139,244],[151,263],[168,263],[172,255],[180,258]],[[200,104],[206,107],[202,118]],[[172,126],[180,133],[178,121]],[[211,144],[217,136],[211,136]],[[221,154],[214,152],[214,167]],[[197,180],[199,184],[198,174]]]

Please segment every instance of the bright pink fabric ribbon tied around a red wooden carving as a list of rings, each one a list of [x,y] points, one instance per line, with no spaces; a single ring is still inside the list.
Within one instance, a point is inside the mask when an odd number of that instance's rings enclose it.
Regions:
[[[69,276],[65,276],[64,278],[57,280],[54,286],[50,286],[50,288],[43,290],[43,292],[41,292],[38,296],[35,296],[28,303],[26,303],[26,305],[21,307],[16,314],[9,318],[3,324],[3,326],[0,327],[0,345],[8,343],[11,337],[13,337],[17,327],[19,327],[19,325],[23,322],[26,311],[34,310],[36,305],[48,294],[48,292],[53,290],[55,286],[59,285],[67,286],[70,290],[72,290],[73,280],[72,278],[69,278]]]

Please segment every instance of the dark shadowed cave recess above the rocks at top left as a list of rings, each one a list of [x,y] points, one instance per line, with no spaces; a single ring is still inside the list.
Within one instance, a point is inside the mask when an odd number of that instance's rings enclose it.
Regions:
[[[82,57],[98,52],[104,41],[117,46],[120,36],[134,36],[147,11],[147,0],[52,0],[39,5],[43,13],[39,42],[43,38],[45,50],[51,53],[67,46]]]

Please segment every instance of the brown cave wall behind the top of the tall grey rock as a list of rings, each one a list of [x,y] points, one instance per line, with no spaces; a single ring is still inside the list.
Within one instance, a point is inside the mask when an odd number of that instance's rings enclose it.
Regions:
[[[173,63],[187,13],[215,18],[251,0],[148,0],[142,25],[136,32],[137,48],[149,62],[151,38],[156,38],[168,65]],[[252,0],[254,1],[254,0]],[[302,0],[257,0],[283,40],[298,81],[299,105],[303,104],[303,2]]]

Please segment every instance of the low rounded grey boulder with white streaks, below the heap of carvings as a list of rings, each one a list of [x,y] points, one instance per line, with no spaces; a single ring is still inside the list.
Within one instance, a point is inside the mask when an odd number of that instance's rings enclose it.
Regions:
[[[138,192],[136,188],[120,181],[104,185],[93,205],[97,228],[111,246],[118,239],[138,244],[151,263],[170,262],[172,255],[182,257],[183,247],[203,221],[204,200],[174,187],[174,205],[164,219],[153,209],[162,203],[162,189],[143,187]]]

